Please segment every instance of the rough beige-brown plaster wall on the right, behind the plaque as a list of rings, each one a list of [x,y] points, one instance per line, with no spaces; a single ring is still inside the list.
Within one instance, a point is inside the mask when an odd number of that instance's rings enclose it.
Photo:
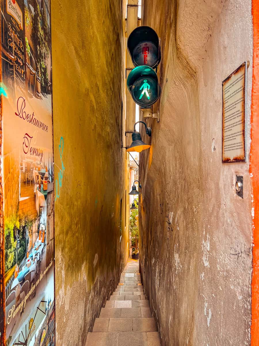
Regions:
[[[249,163],[221,163],[221,83],[252,62],[251,2],[143,0],[142,24],[162,42],[161,121],[140,157],[141,271],[162,344],[250,345]]]

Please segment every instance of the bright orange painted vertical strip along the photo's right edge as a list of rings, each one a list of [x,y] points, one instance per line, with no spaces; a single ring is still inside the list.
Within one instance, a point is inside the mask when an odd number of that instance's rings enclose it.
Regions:
[[[259,1],[252,1],[253,81],[251,105],[250,174],[253,194],[253,272],[251,346],[259,342]]]

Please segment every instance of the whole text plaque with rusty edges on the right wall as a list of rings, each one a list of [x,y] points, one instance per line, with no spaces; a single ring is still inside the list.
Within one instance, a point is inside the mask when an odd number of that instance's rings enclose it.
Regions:
[[[222,82],[222,163],[246,162],[247,62]]]

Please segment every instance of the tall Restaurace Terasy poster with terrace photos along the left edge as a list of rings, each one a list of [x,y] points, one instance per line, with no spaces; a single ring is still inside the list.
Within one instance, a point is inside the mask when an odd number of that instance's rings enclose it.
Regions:
[[[0,4],[0,337],[6,346],[53,346],[50,0]]]

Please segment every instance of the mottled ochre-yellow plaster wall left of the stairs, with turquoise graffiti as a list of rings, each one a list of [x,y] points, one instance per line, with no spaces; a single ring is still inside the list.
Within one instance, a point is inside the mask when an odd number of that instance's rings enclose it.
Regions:
[[[127,260],[124,8],[51,2],[57,345],[85,345]]]

